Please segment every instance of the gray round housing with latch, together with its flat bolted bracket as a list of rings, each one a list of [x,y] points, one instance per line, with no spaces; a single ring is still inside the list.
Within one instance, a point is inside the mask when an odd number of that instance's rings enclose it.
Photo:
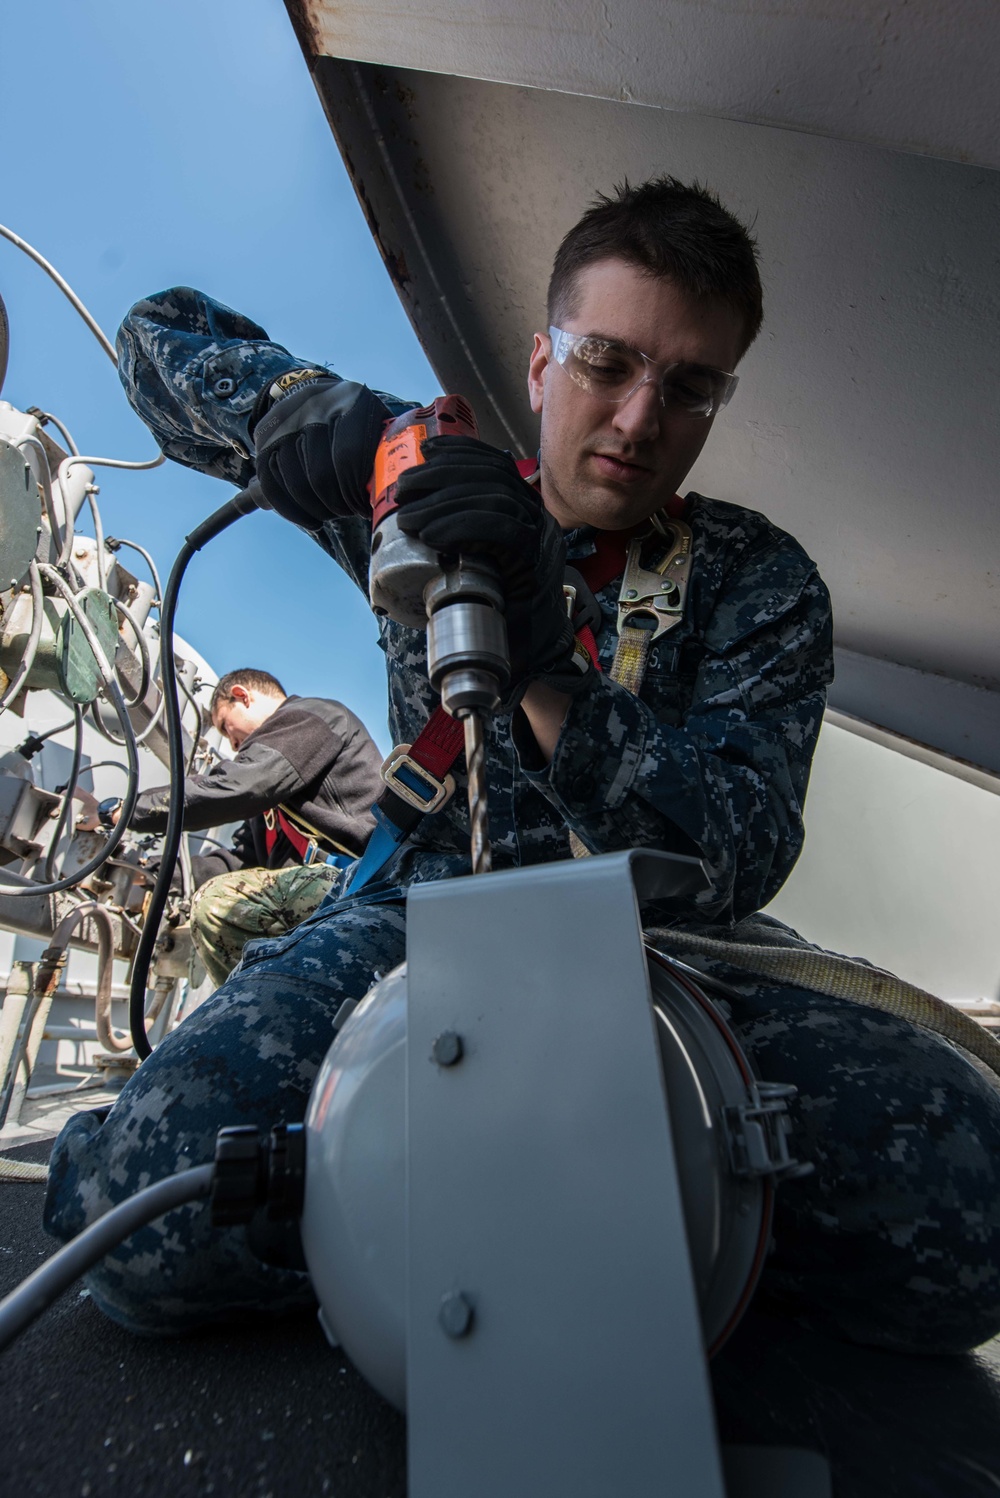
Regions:
[[[407,963],[338,1016],[305,1122],[328,1338],[409,1416],[412,1498],[828,1494],[720,1453],[707,1356],[746,1308],[792,1089],[644,947],[656,852],[416,887]],[[558,933],[557,936],[554,933]]]

